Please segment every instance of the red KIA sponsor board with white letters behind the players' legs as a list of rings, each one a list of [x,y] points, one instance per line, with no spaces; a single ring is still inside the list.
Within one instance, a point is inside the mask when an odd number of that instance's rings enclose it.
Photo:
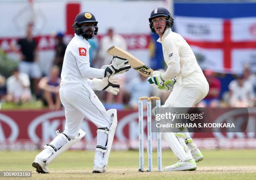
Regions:
[[[146,110],[144,110],[146,122]],[[256,148],[256,108],[248,109],[248,126],[243,132],[190,132],[198,147],[213,148]],[[224,122],[226,114],[235,114],[230,118],[239,120],[241,116],[233,110],[215,110],[213,122]],[[36,150],[43,148],[56,137],[57,129],[65,126],[64,110],[20,110],[0,111],[0,150]],[[146,136],[146,123],[144,123]],[[74,150],[94,150],[96,146],[97,127],[88,119],[84,119],[81,129],[85,137],[72,147]],[[152,133],[153,148],[156,148],[156,134]],[[144,142],[146,143],[146,142]],[[168,145],[163,140],[163,148]],[[145,146],[146,147],[146,144]],[[138,148],[138,112],[132,110],[118,111],[118,126],[113,142],[114,150]]]

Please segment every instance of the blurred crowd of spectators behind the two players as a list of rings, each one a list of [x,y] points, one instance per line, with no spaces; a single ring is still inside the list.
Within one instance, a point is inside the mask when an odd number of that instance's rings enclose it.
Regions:
[[[28,25],[26,37],[21,38],[12,45],[12,51],[20,55],[17,68],[14,68],[10,77],[0,74],[0,101],[2,103],[24,104],[28,101],[42,101],[44,107],[51,110],[61,109],[59,98],[59,84],[62,63],[67,45],[64,43],[63,33],[56,34],[55,57],[49,75],[42,76],[37,65],[37,46],[32,36],[33,25]],[[153,38],[152,38],[153,39]],[[153,41],[153,40],[152,40]],[[110,46],[119,46],[127,49],[125,39],[116,34],[113,28],[109,28],[107,34],[101,39],[99,44],[96,39],[89,41],[90,63],[92,67],[100,68],[110,64],[111,56],[106,53]],[[156,47],[150,46],[152,49]],[[163,58],[152,56],[154,67],[163,67]],[[157,69],[158,71],[164,71]],[[120,74],[120,93],[113,96],[105,91],[95,92],[105,107],[117,109],[137,109],[138,97],[159,96],[164,102],[170,92],[163,93],[159,89],[153,89],[148,84],[146,77],[138,74],[133,79],[129,75]],[[210,69],[204,69],[205,77],[209,83],[209,93],[196,106],[198,107],[251,107],[256,106],[256,75],[252,73],[249,66],[244,66],[241,74],[220,74]]]

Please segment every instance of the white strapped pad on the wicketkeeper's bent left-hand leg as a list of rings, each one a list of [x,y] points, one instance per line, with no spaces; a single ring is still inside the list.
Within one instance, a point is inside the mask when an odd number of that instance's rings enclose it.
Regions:
[[[62,134],[59,130],[56,131],[56,134],[58,134],[58,136],[60,135],[60,136],[64,137],[64,139],[66,140],[67,143],[64,144],[61,148],[59,148],[59,150],[57,150],[53,145],[50,145],[50,144],[47,144],[44,146],[44,148],[48,148],[49,150],[51,150],[53,152],[53,154],[49,157],[49,159],[46,160],[46,165],[50,164],[62,152],[65,152],[67,149],[69,149],[69,147],[76,144],[80,139],[82,139],[84,137],[84,135],[86,133],[82,129],[79,129],[77,137],[75,137],[74,139],[70,139],[66,134]]]

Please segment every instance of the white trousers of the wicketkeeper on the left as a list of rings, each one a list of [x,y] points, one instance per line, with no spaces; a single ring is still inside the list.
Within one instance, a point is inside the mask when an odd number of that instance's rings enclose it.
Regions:
[[[64,133],[69,137],[74,138],[77,135],[84,116],[97,127],[110,127],[111,120],[105,107],[86,84],[61,86],[59,95],[65,108]]]

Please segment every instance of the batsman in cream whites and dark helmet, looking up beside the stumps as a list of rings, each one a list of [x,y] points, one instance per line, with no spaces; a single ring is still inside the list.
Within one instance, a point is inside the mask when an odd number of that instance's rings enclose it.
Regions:
[[[209,84],[197,63],[195,55],[181,35],[172,32],[174,19],[165,8],[155,8],[150,15],[151,32],[159,35],[164,61],[164,73],[154,71],[148,82],[161,90],[172,90],[162,107],[192,107],[201,101],[209,91]],[[175,78],[175,79],[174,79]],[[164,132],[163,138],[179,159],[165,171],[196,170],[196,162],[203,160],[188,132]]]

